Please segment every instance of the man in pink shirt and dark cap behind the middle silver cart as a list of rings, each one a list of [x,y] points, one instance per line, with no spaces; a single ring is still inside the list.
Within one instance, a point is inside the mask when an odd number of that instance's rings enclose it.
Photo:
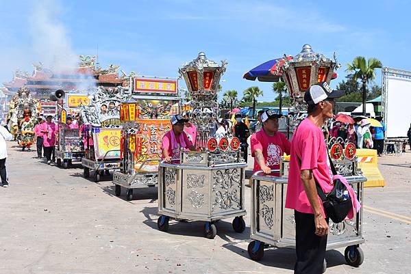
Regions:
[[[179,159],[180,148],[188,148],[195,150],[187,134],[184,132],[184,123],[188,120],[182,115],[177,114],[171,118],[171,131],[168,131],[162,137],[162,159],[166,162],[171,162],[171,159]]]

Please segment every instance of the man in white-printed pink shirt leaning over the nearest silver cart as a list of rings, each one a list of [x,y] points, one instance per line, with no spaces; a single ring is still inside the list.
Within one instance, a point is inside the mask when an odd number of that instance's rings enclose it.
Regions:
[[[279,169],[279,161],[284,152],[290,154],[291,143],[286,135],[278,132],[278,118],[281,115],[269,109],[261,115],[262,130],[251,136],[251,156],[254,157],[254,172],[262,170],[271,174],[271,169]],[[278,173],[273,174],[278,176]]]

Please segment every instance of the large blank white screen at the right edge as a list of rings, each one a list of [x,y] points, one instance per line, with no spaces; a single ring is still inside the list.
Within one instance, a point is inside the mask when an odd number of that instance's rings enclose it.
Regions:
[[[411,123],[411,79],[388,76],[386,86],[387,137],[406,137]]]

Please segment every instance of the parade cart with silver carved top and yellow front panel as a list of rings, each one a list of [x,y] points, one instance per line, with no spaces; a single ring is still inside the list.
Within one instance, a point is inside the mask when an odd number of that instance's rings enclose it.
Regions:
[[[120,105],[126,98],[123,87],[105,90],[97,87],[90,97],[90,104],[82,106],[81,128],[86,153],[82,158],[84,178],[94,172],[95,182],[100,176],[110,175],[122,164],[120,139]]]

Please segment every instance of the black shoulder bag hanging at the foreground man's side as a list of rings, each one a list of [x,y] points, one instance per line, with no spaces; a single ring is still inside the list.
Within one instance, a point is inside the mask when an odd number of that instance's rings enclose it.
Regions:
[[[336,168],[334,167],[331,158],[329,158],[329,165],[331,165],[332,174],[336,175]],[[319,183],[315,181],[317,193],[319,194],[321,201],[323,201],[325,213],[327,213],[329,219],[332,219],[334,223],[340,223],[347,217],[353,204],[345,184],[341,182],[340,179],[334,180],[333,184],[334,188],[332,191],[325,194]]]

